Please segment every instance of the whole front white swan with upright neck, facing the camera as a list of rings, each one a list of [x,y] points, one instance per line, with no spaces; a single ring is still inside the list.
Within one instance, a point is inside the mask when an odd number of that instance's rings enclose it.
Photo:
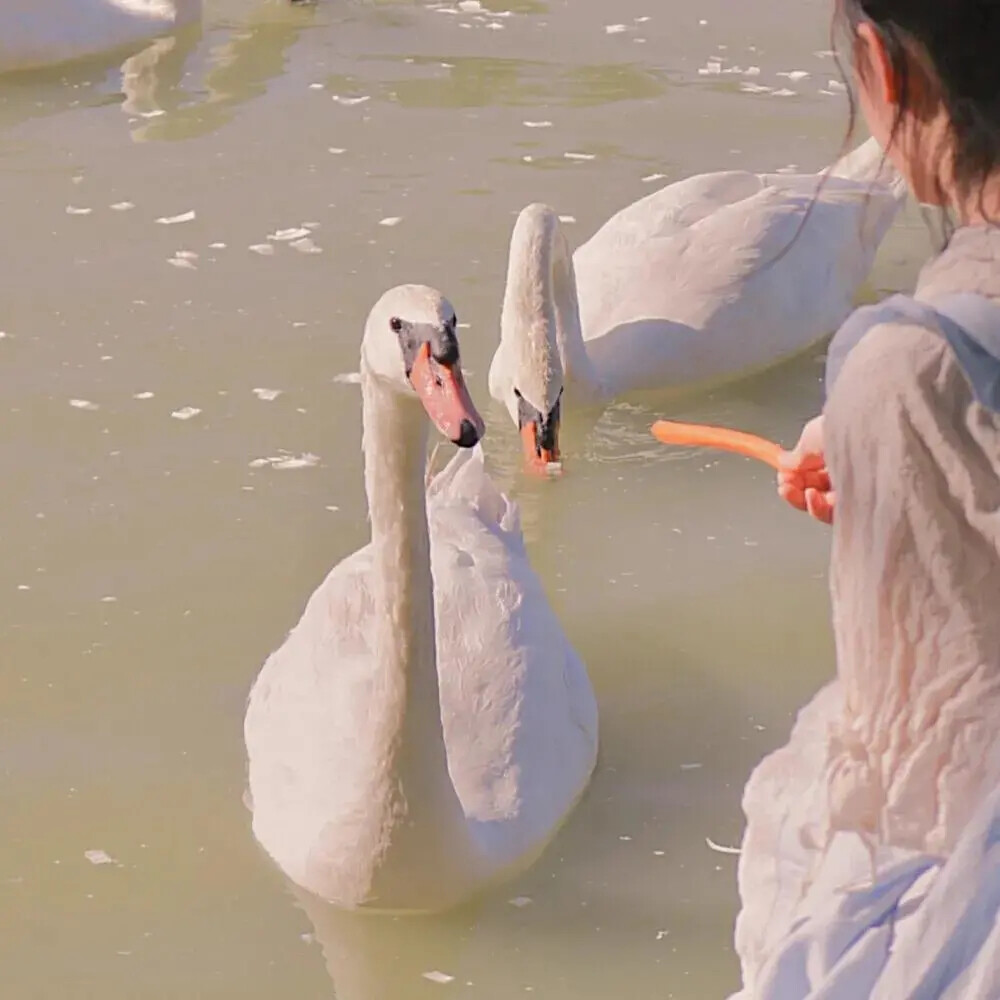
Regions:
[[[334,567],[250,694],[253,831],[342,907],[447,908],[526,867],[586,787],[586,670],[493,485],[455,314],[403,286],[361,351],[371,543]],[[466,450],[425,493],[428,421]]]

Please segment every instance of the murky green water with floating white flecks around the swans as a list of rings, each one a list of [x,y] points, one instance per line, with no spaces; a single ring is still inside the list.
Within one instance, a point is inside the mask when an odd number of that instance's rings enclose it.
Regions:
[[[648,426],[671,413],[790,442],[821,359],[617,406],[541,485],[511,471],[486,371],[524,204],[574,216],[582,240],[651,185],[835,154],[827,6],[225,0],[124,71],[0,79],[5,998],[737,985],[735,859],[706,837],[738,843],[747,774],[832,668],[827,537],[766,472],[668,454]],[[699,73],[711,56],[760,73]],[[322,252],[268,238],[303,226]],[[906,287],[926,248],[902,219],[871,292]],[[334,377],[402,281],[471,325],[487,450],[590,668],[603,745],[527,875],[392,921],[298,905],[250,837],[241,726],[260,663],[367,537],[357,387]]]

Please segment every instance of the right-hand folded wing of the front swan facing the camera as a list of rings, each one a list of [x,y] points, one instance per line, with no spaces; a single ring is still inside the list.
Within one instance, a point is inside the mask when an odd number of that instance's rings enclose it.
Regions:
[[[513,862],[586,787],[597,705],[481,450],[442,476],[430,523],[449,770],[484,851]]]

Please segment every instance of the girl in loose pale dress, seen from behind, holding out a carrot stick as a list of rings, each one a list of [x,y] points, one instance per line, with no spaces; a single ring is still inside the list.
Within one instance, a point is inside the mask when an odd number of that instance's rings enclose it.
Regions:
[[[1000,0],[838,0],[857,101],[954,220],[834,337],[779,493],[833,524],[837,679],[744,793],[741,1000],[1000,997]],[[853,102],[852,102],[853,108]],[[853,118],[853,113],[852,113]]]

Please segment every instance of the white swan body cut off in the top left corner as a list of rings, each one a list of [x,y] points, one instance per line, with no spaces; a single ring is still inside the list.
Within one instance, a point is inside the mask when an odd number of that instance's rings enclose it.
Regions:
[[[200,17],[201,0],[3,0],[0,72],[111,52]]]

